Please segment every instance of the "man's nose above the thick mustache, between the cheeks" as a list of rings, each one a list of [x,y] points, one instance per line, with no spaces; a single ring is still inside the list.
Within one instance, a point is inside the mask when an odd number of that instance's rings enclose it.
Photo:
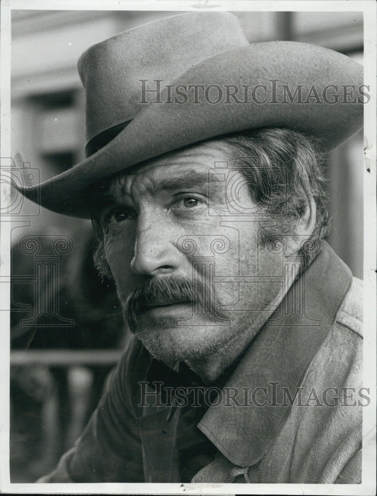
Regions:
[[[179,251],[172,242],[166,218],[140,215],[131,272],[143,276],[171,274],[178,270]]]

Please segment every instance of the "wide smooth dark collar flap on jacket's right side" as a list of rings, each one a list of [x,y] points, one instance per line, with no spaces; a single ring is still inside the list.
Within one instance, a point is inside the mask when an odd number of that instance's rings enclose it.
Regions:
[[[222,391],[222,401],[208,409],[199,429],[233,464],[257,463],[281,431],[291,407],[282,406],[283,390],[291,396],[336,321],[352,274],[329,245],[321,248],[285,299],[254,339]],[[236,399],[247,406],[235,406]],[[251,392],[266,388],[252,400]],[[243,388],[243,389],[242,389]],[[221,396],[219,396],[219,400]],[[256,404],[266,403],[265,406]],[[289,403],[288,403],[289,404]]]

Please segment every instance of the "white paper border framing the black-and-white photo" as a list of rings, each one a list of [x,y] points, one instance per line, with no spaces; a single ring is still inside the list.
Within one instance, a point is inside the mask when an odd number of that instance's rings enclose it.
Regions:
[[[371,99],[364,106],[364,134],[368,147],[364,150],[364,281],[365,337],[363,382],[370,388],[370,405],[363,418],[363,472],[360,485],[326,484],[11,484],[9,481],[9,314],[1,318],[0,398],[0,491],[8,494],[276,494],[276,495],[372,495],[376,494],[376,9],[374,0],[365,1],[264,1],[264,0],[191,0],[191,1],[85,1],[85,0],[8,0],[1,2],[1,142],[0,157],[10,157],[10,64],[12,9],[32,10],[176,10],[201,8],[253,11],[362,11],[364,12],[365,82],[370,85]],[[2,161],[2,159],[1,159]],[[1,197],[1,201],[3,198]],[[1,273],[9,267],[10,223],[1,221]],[[0,284],[0,303],[9,301],[9,287]],[[2,307],[1,307],[2,308]]]

